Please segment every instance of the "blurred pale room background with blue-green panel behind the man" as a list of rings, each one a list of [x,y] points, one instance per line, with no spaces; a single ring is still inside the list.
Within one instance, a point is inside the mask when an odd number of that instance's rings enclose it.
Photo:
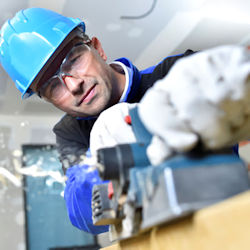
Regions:
[[[109,62],[128,57],[139,69],[186,49],[235,44],[250,35],[249,0],[8,0],[0,2],[0,25],[28,7],[81,18],[86,33],[102,42]],[[106,244],[67,221],[51,131],[62,115],[39,98],[22,101],[0,67],[1,249],[91,249],[96,241]],[[249,161],[248,143],[241,146],[242,157]]]

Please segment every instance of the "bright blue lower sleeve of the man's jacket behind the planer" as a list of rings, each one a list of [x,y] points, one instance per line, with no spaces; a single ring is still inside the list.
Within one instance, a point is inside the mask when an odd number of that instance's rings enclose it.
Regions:
[[[75,165],[67,170],[66,176],[64,199],[71,223],[91,234],[108,231],[108,225],[94,226],[92,222],[92,188],[95,184],[103,183],[98,171],[90,169],[88,165]]]

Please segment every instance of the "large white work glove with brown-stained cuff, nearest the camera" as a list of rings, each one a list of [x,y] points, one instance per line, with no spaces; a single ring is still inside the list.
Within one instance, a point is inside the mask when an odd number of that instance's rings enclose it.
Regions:
[[[205,149],[219,149],[249,138],[249,104],[250,51],[245,47],[217,47],[177,61],[139,105],[144,125],[158,138],[149,155],[163,142],[167,158],[171,150],[188,151],[199,140]],[[165,158],[152,159],[159,164]]]

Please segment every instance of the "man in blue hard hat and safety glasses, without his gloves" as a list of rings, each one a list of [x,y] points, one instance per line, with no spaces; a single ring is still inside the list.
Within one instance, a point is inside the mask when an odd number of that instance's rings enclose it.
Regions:
[[[139,71],[127,58],[107,64],[100,41],[85,34],[79,19],[31,8],[3,25],[1,64],[22,97],[36,93],[66,113],[54,132],[68,177],[67,209],[78,228],[94,234],[107,230],[106,226],[94,226],[91,220],[91,188],[101,180],[88,166],[77,165],[88,150],[96,118],[118,102],[139,102],[176,60],[192,53],[188,50]]]

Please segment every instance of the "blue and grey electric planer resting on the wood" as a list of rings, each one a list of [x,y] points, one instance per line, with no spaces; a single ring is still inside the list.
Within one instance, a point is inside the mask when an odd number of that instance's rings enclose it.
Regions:
[[[110,224],[111,240],[135,236],[153,226],[249,189],[247,168],[231,148],[204,151],[199,145],[153,166],[147,157],[152,135],[137,108],[130,110],[136,143],[97,151],[97,167],[107,184],[92,192],[95,225]]]

